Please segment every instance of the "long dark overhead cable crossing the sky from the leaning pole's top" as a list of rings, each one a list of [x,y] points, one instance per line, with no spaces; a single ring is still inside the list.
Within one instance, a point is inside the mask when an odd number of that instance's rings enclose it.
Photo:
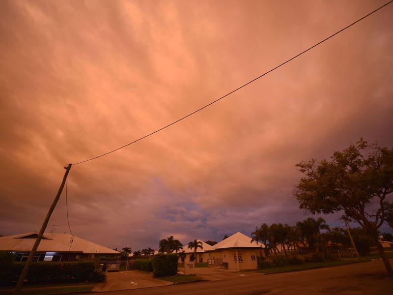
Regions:
[[[184,116],[184,117],[182,117],[182,118],[180,118],[180,119],[177,119],[177,120],[171,122],[170,124],[168,124],[168,125],[166,125],[166,126],[164,126],[164,127],[161,127],[160,129],[157,129],[156,131],[153,131],[153,132],[151,132],[151,133],[149,133],[149,134],[147,134],[147,135],[145,135],[145,136],[142,136],[142,137],[140,137],[139,139],[134,140],[133,142],[130,142],[130,143],[124,145],[124,146],[121,146],[121,147],[119,147],[119,148],[115,148],[115,149],[113,149],[113,150],[111,150],[111,151],[108,151],[108,152],[103,153],[103,154],[101,154],[101,155],[92,157],[92,158],[90,158],[90,159],[86,159],[86,160],[84,160],[84,161],[80,161],[80,162],[75,163],[75,164],[73,164],[73,165],[78,165],[78,164],[82,164],[82,163],[85,163],[85,162],[88,162],[88,161],[91,161],[91,160],[94,160],[94,159],[98,159],[98,158],[103,157],[103,156],[106,156],[106,155],[108,155],[108,154],[110,154],[110,153],[112,153],[112,152],[115,152],[116,150],[119,150],[119,149],[121,149],[121,148],[128,147],[128,146],[130,146],[130,145],[132,145],[132,144],[135,144],[135,143],[139,142],[139,141],[142,140],[142,139],[145,139],[146,137],[152,136],[153,134],[155,134],[155,133],[157,133],[157,132],[160,132],[161,130],[166,129],[166,128],[168,128],[169,126],[172,126],[172,125],[174,125],[174,124],[180,122],[181,120],[184,120],[185,118],[188,118],[188,117],[190,117],[190,116],[196,114],[196,113],[199,112],[199,111],[202,111],[203,109],[205,109],[205,108],[211,106],[212,104],[214,104],[214,103],[216,103],[216,102],[222,100],[222,99],[225,98],[226,96],[228,96],[228,95],[230,95],[230,94],[236,92],[237,90],[240,90],[240,89],[246,87],[247,85],[249,85],[249,84],[255,82],[256,80],[262,78],[263,76],[269,74],[270,72],[273,72],[274,70],[278,69],[279,67],[281,67],[281,66],[283,66],[284,64],[288,63],[289,61],[291,61],[291,60],[293,60],[293,59],[296,59],[296,58],[300,57],[301,55],[305,54],[306,52],[308,52],[309,50],[313,49],[314,47],[316,47],[316,46],[322,44],[323,42],[326,42],[326,41],[329,40],[330,38],[333,38],[334,36],[336,36],[336,35],[339,34],[340,32],[342,32],[342,31],[344,31],[344,30],[346,30],[346,29],[352,27],[353,25],[359,23],[360,21],[364,20],[366,17],[368,17],[368,16],[370,16],[371,14],[377,12],[378,10],[384,8],[385,6],[391,4],[392,2],[393,2],[393,0],[391,0],[391,1],[387,2],[387,3],[385,3],[384,5],[380,6],[379,8],[377,8],[377,9],[375,9],[375,10],[373,10],[373,11],[371,11],[370,13],[368,13],[368,14],[366,14],[365,16],[361,17],[360,19],[358,19],[357,21],[353,22],[352,24],[346,26],[345,28],[342,28],[342,29],[338,30],[338,31],[335,32],[334,34],[330,35],[329,37],[327,37],[327,38],[323,39],[322,41],[319,41],[318,43],[312,45],[311,47],[309,47],[309,48],[306,49],[305,51],[302,51],[301,53],[295,55],[294,57],[292,57],[292,58],[290,58],[290,59],[287,59],[286,61],[282,62],[281,64],[277,65],[276,67],[274,67],[274,68],[268,70],[267,72],[265,72],[265,73],[263,73],[262,75],[260,75],[260,76],[258,76],[258,77],[256,77],[256,78],[254,78],[253,80],[247,82],[246,84],[243,84],[242,86],[240,86],[240,87],[238,87],[238,88],[236,88],[236,89],[233,89],[232,91],[230,91],[230,92],[226,93],[225,95],[221,96],[220,98],[218,98],[218,99],[216,99],[216,100],[214,100],[214,101],[208,103],[207,105],[205,105],[205,106],[203,106],[203,107],[197,109],[196,111],[194,111],[194,112],[192,112],[192,113],[190,113],[190,114],[188,114],[188,115],[186,115],[186,116]]]

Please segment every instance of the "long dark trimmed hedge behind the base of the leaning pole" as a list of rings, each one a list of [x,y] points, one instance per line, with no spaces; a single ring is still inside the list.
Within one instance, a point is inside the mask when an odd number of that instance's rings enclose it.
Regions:
[[[25,263],[0,264],[0,284],[15,284]],[[56,284],[103,282],[104,272],[95,269],[92,261],[83,262],[34,262],[26,276],[28,284]]]

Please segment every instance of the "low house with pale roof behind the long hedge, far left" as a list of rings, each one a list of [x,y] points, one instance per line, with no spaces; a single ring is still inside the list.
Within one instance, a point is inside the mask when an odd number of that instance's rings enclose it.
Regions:
[[[26,261],[37,232],[0,237],[0,251],[15,252],[15,261]],[[70,234],[44,233],[33,261],[74,261],[96,256],[118,256],[120,252]]]

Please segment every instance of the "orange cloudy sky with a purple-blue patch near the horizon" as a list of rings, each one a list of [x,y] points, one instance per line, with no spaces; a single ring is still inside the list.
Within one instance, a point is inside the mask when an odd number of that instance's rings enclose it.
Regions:
[[[0,1],[0,234],[39,231],[65,164],[193,112],[383,3]],[[393,147],[392,15],[393,4],[196,115],[72,166],[74,235],[157,250],[169,235],[221,240],[308,217],[292,194],[296,163],[360,137]],[[69,232],[65,190],[52,225]]]

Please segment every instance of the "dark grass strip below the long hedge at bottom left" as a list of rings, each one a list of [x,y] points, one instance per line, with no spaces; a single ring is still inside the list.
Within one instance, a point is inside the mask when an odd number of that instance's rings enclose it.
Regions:
[[[38,294],[61,294],[91,291],[97,284],[59,284],[59,285],[40,285],[25,286],[21,290],[21,294],[38,295]],[[12,294],[13,287],[0,288],[0,294]]]

